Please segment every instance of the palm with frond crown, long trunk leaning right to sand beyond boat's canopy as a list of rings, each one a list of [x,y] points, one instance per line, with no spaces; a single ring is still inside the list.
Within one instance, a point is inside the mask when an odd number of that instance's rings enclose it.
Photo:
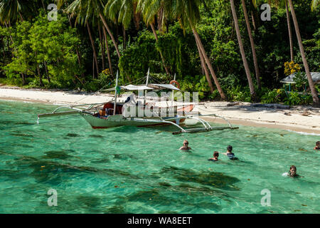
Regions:
[[[196,39],[196,43],[198,43],[198,47],[200,48],[201,54],[204,58],[204,61],[206,62],[209,68],[209,71],[211,73],[211,76],[213,77],[215,86],[217,87],[218,92],[220,93],[220,97],[222,100],[225,100],[226,99],[225,93],[223,93],[220,83],[218,82],[218,78],[217,76],[215,76],[215,71],[213,71],[213,67],[203,47],[201,38],[198,35],[198,32],[196,30],[196,23],[200,18],[199,7],[201,4],[203,4],[203,0],[167,0],[165,2],[166,2],[165,9],[171,10],[172,16],[178,19],[181,26],[183,26],[183,28],[186,28],[186,27],[191,28],[193,32],[193,36]]]

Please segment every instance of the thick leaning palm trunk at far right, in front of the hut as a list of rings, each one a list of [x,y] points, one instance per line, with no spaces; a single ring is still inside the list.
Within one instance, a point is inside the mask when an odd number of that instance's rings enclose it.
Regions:
[[[289,0],[289,7],[290,7],[290,10],[291,10],[292,19],[294,21],[294,28],[295,28],[296,34],[297,34],[297,39],[298,39],[298,43],[299,43],[299,49],[300,49],[300,53],[301,53],[301,56],[302,56],[302,62],[304,63],[304,70],[306,71],[306,78],[308,78],[312,99],[314,101],[313,105],[315,107],[319,107],[318,93],[316,92],[316,88],[314,87],[314,82],[312,81],[311,73],[309,71],[309,65],[308,65],[308,62],[306,61],[306,54],[304,53],[304,46],[302,45],[302,38],[301,38],[301,35],[300,35],[299,25],[298,25],[296,14],[294,12],[294,6],[292,4],[292,0]]]

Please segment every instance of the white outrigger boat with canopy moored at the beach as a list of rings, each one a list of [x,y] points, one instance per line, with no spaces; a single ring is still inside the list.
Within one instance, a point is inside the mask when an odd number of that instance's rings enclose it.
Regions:
[[[175,79],[175,78],[174,78]],[[211,130],[223,130],[223,129],[235,129],[233,126],[225,120],[225,118],[220,117],[215,114],[200,115],[194,113],[195,103],[176,103],[174,102],[174,91],[181,91],[178,87],[177,81],[171,81],[169,84],[158,84],[149,83],[149,71],[146,76],[145,85],[128,85],[128,86],[118,86],[118,73],[116,78],[116,86],[107,91],[114,90],[114,98],[105,103],[92,103],[83,105],[63,105],[52,113],[38,114],[38,120],[44,117],[57,116],[57,115],[73,115],[79,113],[86,121],[91,125],[92,128],[116,128],[119,126],[137,126],[137,127],[152,127],[157,125],[174,125],[179,131],[173,134],[180,133],[198,133],[206,132]],[[119,98],[117,100],[117,95],[119,90],[172,90],[171,102],[168,100],[162,100],[161,102],[153,102],[154,100],[146,100],[146,95],[144,95],[143,100],[137,98],[138,102],[134,100],[134,96],[130,95],[126,100]],[[128,100],[131,102],[130,110],[134,108],[133,113],[142,113],[142,116],[136,117],[136,115],[129,115],[126,113],[126,103]],[[150,105],[151,104],[151,105]],[[63,108],[68,108],[68,111],[60,111]],[[148,116],[146,115],[146,110],[158,110],[156,115]],[[132,111],[131,111],[132,113]],[[153,113],[154,114],[154,113]],[[163,115],[165,114],[165,115]],[[225,127],[213,127],[206,120],[200,118],[200,116],[215,116],[218,118],[223,118],[228,126]],[[181,125],[186,119],[193,119],[200,122],[203,128],[182,128]]]

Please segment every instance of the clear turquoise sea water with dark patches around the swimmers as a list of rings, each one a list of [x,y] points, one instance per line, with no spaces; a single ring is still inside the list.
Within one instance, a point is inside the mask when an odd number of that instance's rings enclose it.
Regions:
[[[0,101],[0,213],[320,212],[319,135],[242,126],[188,135],[93,130],[78,115],[34,125],[53,108]],[[178,150],[183,139],[192,152]],[[228,145],[240,160],[208,161]],[[283,177],[290,165],[303,177]],[[48,206],[51,188],[57,207]],[[260,203],[264,189],[270,207]]]

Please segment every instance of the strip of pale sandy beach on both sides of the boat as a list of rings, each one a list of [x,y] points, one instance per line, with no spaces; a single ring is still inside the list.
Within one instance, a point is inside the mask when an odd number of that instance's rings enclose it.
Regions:
[[[102,93],[83,93],[72,90],[22,89],[0,86],[0,100],[70,105],[103,103],[112,98],[113,96]],[[242,102],[207,101],[199,103],[198,110],[201,114],[216,113],[228,120],[232,125],[277,128],[291,130],[296,133],[320,134],[320,108],[295,106],[284,109],[260,106]],[[202,118],[213,123],[226,123],[221,118],[208,116]]]

